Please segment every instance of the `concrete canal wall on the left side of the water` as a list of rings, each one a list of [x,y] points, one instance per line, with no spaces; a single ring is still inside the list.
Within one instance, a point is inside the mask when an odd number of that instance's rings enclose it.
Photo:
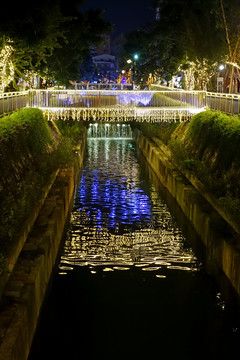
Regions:
[[[0,360],[27,360],[62,234],[72,206],[78,166],[62,169],[49,189],[3,292],[0,308]]]

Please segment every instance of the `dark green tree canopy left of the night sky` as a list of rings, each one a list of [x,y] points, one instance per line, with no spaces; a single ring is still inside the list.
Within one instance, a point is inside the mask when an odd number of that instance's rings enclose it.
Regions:
[[[82,13],[75,0],[6,2],[4,12],[0,50],[11,43],[15,76],[33,70],[59,84],[79,78],[80,63],[91,46],[111,31],[100,10]]]

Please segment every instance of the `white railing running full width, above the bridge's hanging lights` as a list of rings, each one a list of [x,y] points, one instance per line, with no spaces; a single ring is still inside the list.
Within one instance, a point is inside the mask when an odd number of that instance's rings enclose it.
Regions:
[[[180,111],[206,108],[220,110],[227,114],[240,114],[240,95],[220,94],[205,91],[184,90],[29,90],[0,94],[0,115],[13,112],[24,107],[42,109],[106,109],[108,113],[127,112],[134,109],[138,113],[149,113],[150,109]],[[128,110],[127,110],[128,109]],[[155,110],[154,110],[155,109]],[[121,110],[121,111],[120,111]]]

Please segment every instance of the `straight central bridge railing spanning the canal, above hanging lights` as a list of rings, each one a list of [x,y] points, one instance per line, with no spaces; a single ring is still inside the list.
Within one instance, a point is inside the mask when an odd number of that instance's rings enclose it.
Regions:
[[[205,93],[199,91],[31,90],[29,93],[29,106],[40,108],[202,108],[204,105]]]

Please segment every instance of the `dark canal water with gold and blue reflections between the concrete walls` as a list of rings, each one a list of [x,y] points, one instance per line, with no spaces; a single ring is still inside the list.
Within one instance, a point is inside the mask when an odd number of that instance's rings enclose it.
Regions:
[[[89,138],[75,195],[29,360],[235,358],[197,237],[134,141]]]

